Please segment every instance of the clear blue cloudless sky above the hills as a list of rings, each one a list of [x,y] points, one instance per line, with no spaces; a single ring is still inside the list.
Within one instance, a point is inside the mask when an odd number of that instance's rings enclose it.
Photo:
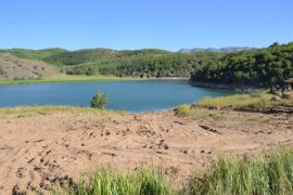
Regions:
[[[268,47],[293,41],[293,0],[1,0],[0,48]]]

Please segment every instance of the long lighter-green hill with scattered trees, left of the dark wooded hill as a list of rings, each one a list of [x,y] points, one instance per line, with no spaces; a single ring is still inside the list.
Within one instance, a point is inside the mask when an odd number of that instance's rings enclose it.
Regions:
[[[165,50],[86,49],[67,51],[0,50],[15,57],[38,60],[68,75],[115,75],[119,77],[190,77],[196,66],[222,56],[221,53],[177,53]]]

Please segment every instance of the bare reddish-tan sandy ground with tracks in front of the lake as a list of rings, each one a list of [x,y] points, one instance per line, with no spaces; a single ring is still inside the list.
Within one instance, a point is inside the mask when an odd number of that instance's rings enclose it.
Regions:
[[[1,118],[0,194],[46,192],[102,165],[127,170],[154,165],[183,183],[219,154],[260,154],[293,143],[292,115],[231,115],[222,120],[178,117],[173,110]]]

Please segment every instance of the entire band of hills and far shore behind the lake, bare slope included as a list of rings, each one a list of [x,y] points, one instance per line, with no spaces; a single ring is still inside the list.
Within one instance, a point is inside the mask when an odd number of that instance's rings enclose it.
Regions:
[[[202,87],[262,88],[293,77],[292,53],[293,43],[273,43],[238,52],[194,53],[155,49],[10,49],[0,50],[0,83],[116,79],[114,77],[191,78],[191,83]]]

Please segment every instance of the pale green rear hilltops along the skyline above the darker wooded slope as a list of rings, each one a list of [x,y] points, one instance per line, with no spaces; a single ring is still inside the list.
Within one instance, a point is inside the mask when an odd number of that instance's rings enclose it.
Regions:
[[[144,55],[162,55],[171,53],[165,50],[143,49],[143,50],[111,50],[111,49],[84,49],[77,51],[67,51],[60,48],[44,50],[10,49],[0,50],[1,53],[10,53],[21,58],[39,60],[50,62],[54,65],[87,65],[88,63],[98,63],[120,58],[141,57]],[[69,64],[66,64],[69,63]]]

